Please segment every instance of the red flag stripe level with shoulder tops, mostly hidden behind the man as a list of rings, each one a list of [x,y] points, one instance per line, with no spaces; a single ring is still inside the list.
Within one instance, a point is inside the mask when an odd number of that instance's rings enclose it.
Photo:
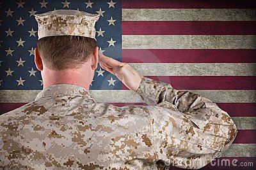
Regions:
[[[0,115],[26,103],[0,103]],[[127,105],[147,105],[145,103],[110,103],[114,106],[127,106]],[[256,103],[217,103],[221,109],[225,110],[232,117],[255,117],[256,116]]]

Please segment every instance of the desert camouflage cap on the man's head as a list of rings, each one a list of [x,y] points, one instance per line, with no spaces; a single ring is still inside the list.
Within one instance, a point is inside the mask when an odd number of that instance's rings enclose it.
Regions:
[[[99,17],[98,14],[78,10],[54,10],[35,14],[38,22],[38,39],[65,35],[95,39],[95,23]]]

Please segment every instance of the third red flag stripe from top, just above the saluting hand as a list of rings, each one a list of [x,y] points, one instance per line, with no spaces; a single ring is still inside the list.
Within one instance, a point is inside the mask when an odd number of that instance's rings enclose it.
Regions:
[[[256,50],[202,50],[202,49],[126,49],[123,62],[136,63],[250,63],[256,62]]]

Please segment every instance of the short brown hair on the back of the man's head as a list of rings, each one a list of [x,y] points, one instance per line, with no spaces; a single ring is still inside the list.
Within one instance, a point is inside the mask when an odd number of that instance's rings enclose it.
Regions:
[[[55,71],[81,67],[95,46],[95,39],[83,36],[49,36],[37,42],[40,57]]]

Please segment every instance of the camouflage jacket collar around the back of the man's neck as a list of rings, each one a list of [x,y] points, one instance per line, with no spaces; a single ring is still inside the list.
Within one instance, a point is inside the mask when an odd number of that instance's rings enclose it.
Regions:
[[[35,100],[38,100],[42,97],[46,96],[63,96],[63,95],[76,95],[83,96],[90,99],[93,99],[90,95],[90,92],[86,90],[84,87],[72,84],[57,84],[51,85],[42,91],[40,91]]]

